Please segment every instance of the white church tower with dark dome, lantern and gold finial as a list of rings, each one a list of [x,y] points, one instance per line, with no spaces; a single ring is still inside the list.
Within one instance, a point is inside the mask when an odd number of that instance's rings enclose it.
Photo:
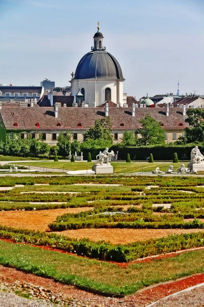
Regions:
[[[79,86],[83,94],[83,102],[89,107],[99,106],[107,101],[123,105],[122,70],[118,61],[106,51],[103,34],[97,32],[93,36],[91,51],[80,60],[71,82],[71,95],[75,95]]]

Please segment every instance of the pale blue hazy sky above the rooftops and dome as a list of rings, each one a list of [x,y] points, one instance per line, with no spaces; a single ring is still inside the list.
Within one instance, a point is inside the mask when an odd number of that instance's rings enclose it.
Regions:
[[[204,95],[203,0],[0,0],[0,83],[70,85],[80,59],[104,35],[124,92]]]

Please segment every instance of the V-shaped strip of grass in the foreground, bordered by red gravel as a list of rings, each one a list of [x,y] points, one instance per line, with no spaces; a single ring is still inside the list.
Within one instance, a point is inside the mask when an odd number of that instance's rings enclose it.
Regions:
[[[202,273],[203,261],[204,251],[200,250],[121,268],[108,262],[0,241],[1,265],[109,295],[131,294],[154,283]]]

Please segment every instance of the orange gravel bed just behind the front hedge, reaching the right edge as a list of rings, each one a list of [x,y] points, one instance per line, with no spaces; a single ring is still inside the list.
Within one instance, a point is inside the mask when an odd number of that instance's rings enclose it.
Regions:
[[[113,244],[128,244],[136,241],[162,238],[171,234],[182,234],[204,231],[204,229],[118,229],[118,228],[86,228],[55,232],[72,238],[89,238],[94,241],[105,240]]]

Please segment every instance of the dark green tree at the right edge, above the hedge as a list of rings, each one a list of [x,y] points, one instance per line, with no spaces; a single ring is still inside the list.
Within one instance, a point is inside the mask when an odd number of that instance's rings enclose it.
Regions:
[[[180,138],[183,143],[204,142],[204,110],[202,108],[188,108],[187,119],[190,127],[185,129],[185,138]]]

